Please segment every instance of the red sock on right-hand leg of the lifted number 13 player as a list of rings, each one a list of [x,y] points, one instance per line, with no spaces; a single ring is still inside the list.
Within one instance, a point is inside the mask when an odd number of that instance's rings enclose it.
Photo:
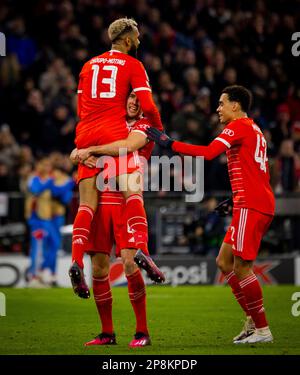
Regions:
[[[135,245],[148,255],[148,222],[141,195],[133,194],[126,199],[125,217]]]

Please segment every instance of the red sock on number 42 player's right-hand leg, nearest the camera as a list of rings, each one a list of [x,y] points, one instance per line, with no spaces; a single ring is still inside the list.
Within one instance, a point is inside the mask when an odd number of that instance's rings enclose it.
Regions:
[[[256,328],[268,327],[263,305],[262,290],[255,274],[245,277],[240,281],[246,305]]]

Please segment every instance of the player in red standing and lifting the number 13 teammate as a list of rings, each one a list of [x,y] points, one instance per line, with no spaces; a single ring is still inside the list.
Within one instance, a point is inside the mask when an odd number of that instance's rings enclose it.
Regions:
[[[149,121],[142,117],[141,107],[134,92],[127,101],[127,126],[129,135],[126,139],[103,146],[91,146],[71,154],[76,162],[76,154],[80,162],[94,168],[97,158],[93,155],[118,155],[120,148],[128,152],[136,152],[148,160],[153,150],[154,142],[147,141],[146,129]],[[141,169],[139,172],[143,172]],[[93,291],[95,303],[102,325],[102,332],[90,345],[112,345],[116,338],[112,320],[112,293],[109,283],[109,260],[113,244],[116,244],[116,256],[121,256],[125,275],[128,281],[129,298],[136,317],[136,333],[130,342],[130,347],[150,345],[150,336],[146,318],[145,283],[138,269],[134,257],[139,248],[135,243],[131,231],[128,231],[126,221],[123,220],[125,199],[121,192],[109,189],[99,194],[99,206],[95,213],[91,233],[89,236],[89,251],[92,258]],[[163,276],[162,276],[163,277]]]

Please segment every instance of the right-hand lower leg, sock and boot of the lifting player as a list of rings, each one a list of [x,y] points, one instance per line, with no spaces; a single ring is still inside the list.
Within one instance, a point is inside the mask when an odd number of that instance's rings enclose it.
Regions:
[[[134,261],[136,249],[122,249],[121,257],[128,281],[129,299],[135,314],[136,333],[129,343],[130,347],[150,345],[146,314],[146,288],[140,269]]]

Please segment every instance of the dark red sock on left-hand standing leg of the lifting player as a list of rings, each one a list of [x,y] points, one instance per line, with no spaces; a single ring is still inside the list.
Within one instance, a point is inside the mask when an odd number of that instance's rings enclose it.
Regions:
[[[108,275],[105,277],[93,277],[94,299],[102,324],[102,332],[112,334],[112,294]]]

